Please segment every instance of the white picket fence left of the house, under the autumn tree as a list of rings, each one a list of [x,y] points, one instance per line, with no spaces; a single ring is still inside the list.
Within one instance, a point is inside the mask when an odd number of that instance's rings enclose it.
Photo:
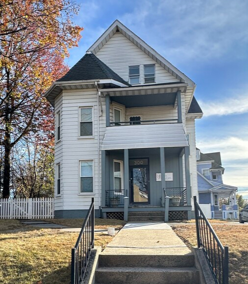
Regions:
[[[0,219],[50,219],[53,208],[53,198],[0,199]]]

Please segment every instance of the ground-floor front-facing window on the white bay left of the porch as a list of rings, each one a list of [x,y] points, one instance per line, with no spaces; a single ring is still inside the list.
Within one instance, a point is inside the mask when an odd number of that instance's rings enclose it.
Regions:
[[[80,193],[93,193],[93,161],[80,161]]]

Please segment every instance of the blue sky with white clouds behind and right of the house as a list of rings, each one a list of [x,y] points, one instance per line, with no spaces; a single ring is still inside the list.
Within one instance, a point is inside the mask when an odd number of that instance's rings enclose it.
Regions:
[[[223,181],[248,199],[248,1],[78,0],[84,28],[67,60],[73,66],[116,20],[196,84],[203,110],[197,146],[220,151]]]

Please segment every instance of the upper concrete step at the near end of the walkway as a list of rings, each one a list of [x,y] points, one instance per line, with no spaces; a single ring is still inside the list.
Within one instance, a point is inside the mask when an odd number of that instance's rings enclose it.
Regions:
[[[195,256],[187,255],[99,255],[100,267],[193,267]]]

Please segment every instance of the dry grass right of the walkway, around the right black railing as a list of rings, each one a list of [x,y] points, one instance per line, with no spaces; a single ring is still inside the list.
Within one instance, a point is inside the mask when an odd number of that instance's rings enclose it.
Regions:
[[[248,226],[212,223],[223,245],[229,246],[229,284],[248,284]],[[173,229],[187,245],[197,245],[195,226],[176,225]]]

